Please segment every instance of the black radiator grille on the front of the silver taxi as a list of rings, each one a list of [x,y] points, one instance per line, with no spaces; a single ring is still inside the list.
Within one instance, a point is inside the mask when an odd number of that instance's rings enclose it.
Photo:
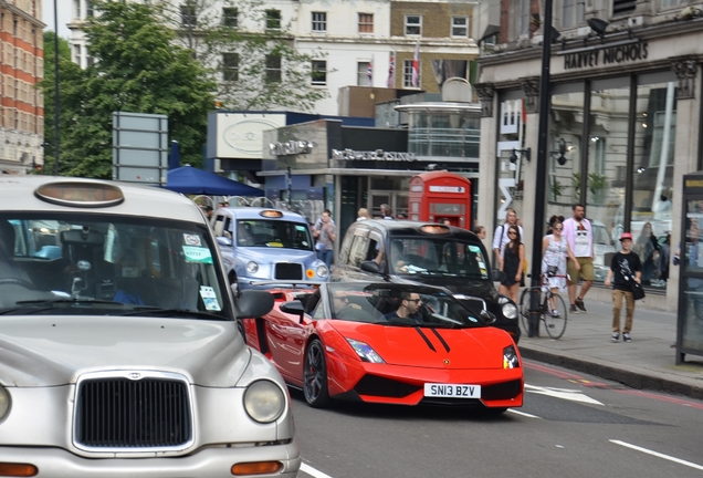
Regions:
[[[167,448],[192,436],[186,383],[122,377],[81,383],[76,444],[91,448]]]

